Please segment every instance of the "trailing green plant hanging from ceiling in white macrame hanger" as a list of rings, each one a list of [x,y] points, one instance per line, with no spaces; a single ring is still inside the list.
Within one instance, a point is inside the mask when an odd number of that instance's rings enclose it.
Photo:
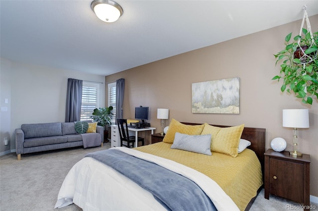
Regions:
[[[296,98],[302,99],[304,104],[313,104],[313,98],[318,99],[318,32],[312,33],[308,15],[305,10],[304,20],[307,29],[301,28],[299,35],[291,40],[292,33],[285,38],[286,47],[275,54],[276,65],[280,65],[280,75],[272,80],[283,79],[281,91],[295,93]]]

